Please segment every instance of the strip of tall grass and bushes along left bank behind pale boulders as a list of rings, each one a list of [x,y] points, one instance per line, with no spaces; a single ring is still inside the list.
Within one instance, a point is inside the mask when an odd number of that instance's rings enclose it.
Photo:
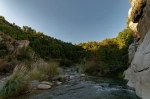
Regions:
[[[57,63],[49,63],[39,68],[29,70],[24,64],[17,65],[13,74],[5,81],[0,89],[0,99],[5,99],[27,92],[32,80],[48,80],[58,74]]]

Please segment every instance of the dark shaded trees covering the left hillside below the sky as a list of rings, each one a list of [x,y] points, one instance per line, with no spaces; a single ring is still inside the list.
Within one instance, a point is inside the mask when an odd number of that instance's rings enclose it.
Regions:
[[[86,53],[80,46],[75,46],[72,43],[63,42],[53,37],[46,36],[42,32],[37,32],[28,26],[23,26],[21,28],[15,25],[15,23],[11,24],[7,22],[2,16],[0,16],[0,31],[17,40],[29,40],[29,46],[45,60],[51,58],[65,58],[79,62]],[[25,56],[25,54],[23,56]],[[18,56],[18,58],[22,60],[23,56]],[[27,56],[25,57],[29,58]]]

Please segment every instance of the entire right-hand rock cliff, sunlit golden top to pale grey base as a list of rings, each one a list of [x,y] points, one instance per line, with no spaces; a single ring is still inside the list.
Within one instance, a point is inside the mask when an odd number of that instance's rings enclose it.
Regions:
[[[134,42],[129,47],[127,85],[142,99],[150,99],[150,0],[131,0],[128,14]]]

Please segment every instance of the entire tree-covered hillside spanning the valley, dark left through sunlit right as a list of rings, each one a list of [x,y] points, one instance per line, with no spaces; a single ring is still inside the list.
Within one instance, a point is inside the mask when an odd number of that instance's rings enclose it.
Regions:
[[[77,70],[96,76],[116,76],[128,67],[128,47],[133,41],[128,28],[116,38],[102,42],[73,45],[37,32],[28,26],[22,28],[0,16],[0,31],[17,40],[29,40],[29,46],[43,59],[57,59],[60,65],[80,64]]]

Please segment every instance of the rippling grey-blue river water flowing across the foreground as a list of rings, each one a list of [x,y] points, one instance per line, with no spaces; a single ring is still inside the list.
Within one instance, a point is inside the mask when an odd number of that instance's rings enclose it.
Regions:
[[[72,74],[73,75],[73,74]],[[76,76],[75,74],[74,76]],[[79,77],[55,88],[18,99],[140,99],[126,81],[102,77]]]

